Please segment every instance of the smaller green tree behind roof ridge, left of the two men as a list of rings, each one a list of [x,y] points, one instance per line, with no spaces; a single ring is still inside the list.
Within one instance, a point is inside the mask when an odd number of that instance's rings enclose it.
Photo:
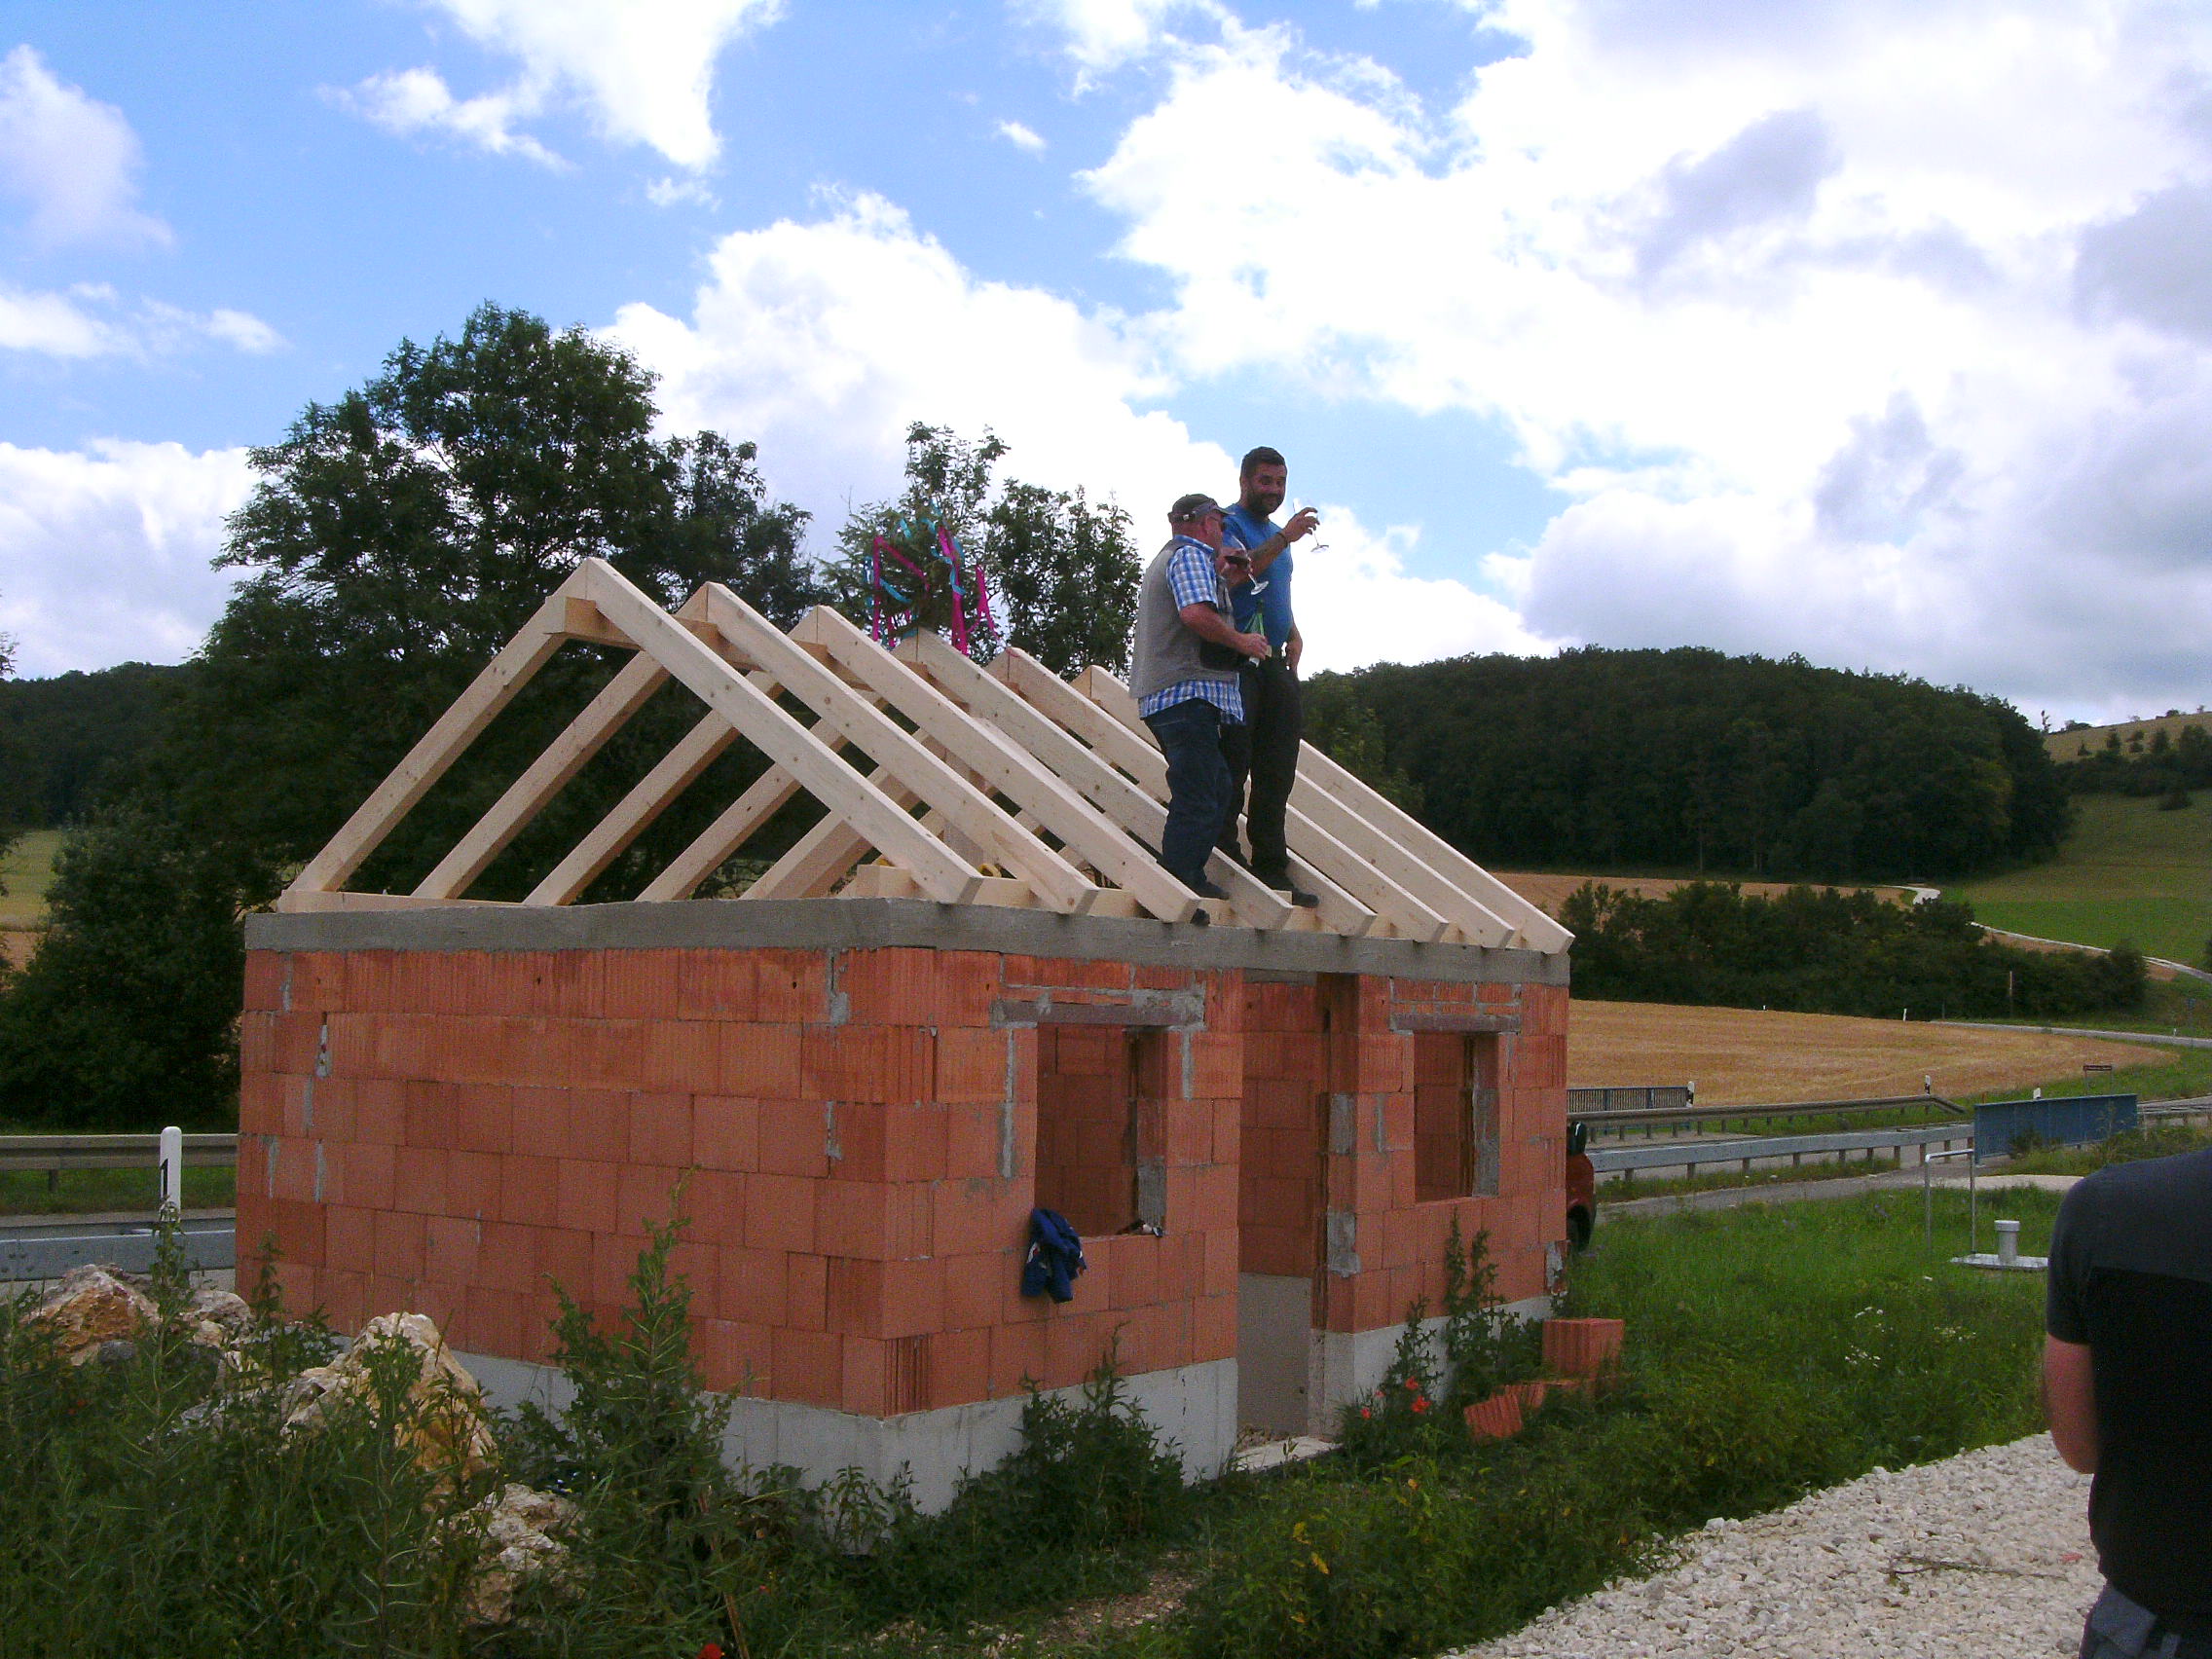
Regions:
[[[995,626],[969,635],[969,655],[984,661],[1011,644],[1057,675],[1091,664],[1124,670],[1141,575],[1128,513],[1093,504],[1082,489],[1002,484],[993,473],[1006,453],[991,429],[971,442],[951,427],[911,425],[900,493],[858,507],[838,531],[827,571],[836,608],[869,626],[876,538],[896,544],[936,522],[951,531],[962,564],[982,562],[991,586]]]

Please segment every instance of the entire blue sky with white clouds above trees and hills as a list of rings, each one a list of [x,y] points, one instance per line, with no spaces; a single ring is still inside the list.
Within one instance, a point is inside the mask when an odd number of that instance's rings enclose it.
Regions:
[[[2212,697],[2212,35],[1944,0],[0,7],[0,630],[186,655],[241,449],[484,299],[834,520],[1276,442],[1312,659]],[[1314,626],[1314,617],[1323,624]]]

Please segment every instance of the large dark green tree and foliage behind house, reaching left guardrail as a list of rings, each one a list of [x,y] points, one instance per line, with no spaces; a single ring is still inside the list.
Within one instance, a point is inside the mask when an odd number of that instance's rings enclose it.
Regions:
[[[239,914],[265,905],[584,557],[661,604],[726,582],[781,624],[816,597],[805,515],[752,445],[657,438],[619,347],[524,312],[403,341],[383,374],[252,451],[217,564],[246,571],[128,801],[73,838],[51,925],[0,1002],[0,1102],[159,1124],[230,1097]],[[356,876],[405,887],[628,653],[566,646]],[[695,719],[664,688],[476,896],[515,898]],[[721,757],[591,896],[626,896],[761,768]]]

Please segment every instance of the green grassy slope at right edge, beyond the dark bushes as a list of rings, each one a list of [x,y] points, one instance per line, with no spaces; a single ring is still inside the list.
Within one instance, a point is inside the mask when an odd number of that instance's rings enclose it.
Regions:
[[[2183,812],[2086,794],[2075,832],[2048,865],[1944,889],[1991,927],[2079,945],[2130,940],[2150,956],[2201,962],[2212,938],[2212,799]]]

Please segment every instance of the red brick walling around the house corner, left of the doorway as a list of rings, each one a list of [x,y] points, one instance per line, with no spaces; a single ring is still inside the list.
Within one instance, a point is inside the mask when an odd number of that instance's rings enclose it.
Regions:
[[[1040,1033],[993,1002],[1161,991],[1206,1004],[1159,1037],[1168,1234],[1022,1298]],[[712,1387],[894,1413],[1077,1383],[1108,1343],[1130,1374],[1228,1358],[1241,1002],[1237,973],[982,951],[254,951],[241,1265],[274,1237],[294,1307],[542,1360],[551,1283],[613,1316],[688,1170]]]

